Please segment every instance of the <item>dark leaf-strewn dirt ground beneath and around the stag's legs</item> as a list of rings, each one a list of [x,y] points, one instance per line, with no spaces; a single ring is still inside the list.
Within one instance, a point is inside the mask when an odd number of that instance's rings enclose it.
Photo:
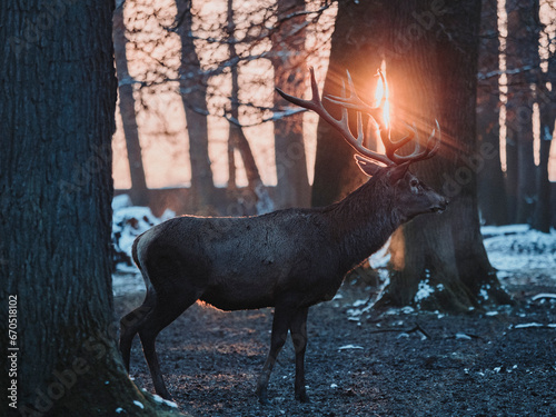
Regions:
[[[272,405],[255,396],[271,309],[195,305],[159,335],[157,350],[175,401],[193,416],[556,416],[556,299],[533,299],[556,292],[549,274],[505,278],[516,305],[496,311],[369,311],[359,321],[348,310],[374,288],[345,282],[339,299],[309,310],[308,404],[294,399],[290,341],[270,379]],[[141,300],[117,297],[117,314]],[[131,376],[153,393],[138,338]]]

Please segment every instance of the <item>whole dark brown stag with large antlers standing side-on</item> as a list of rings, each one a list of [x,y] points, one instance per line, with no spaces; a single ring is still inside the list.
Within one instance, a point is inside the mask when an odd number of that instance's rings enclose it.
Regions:
[[[444,196],[408,170],[411,163],[437,152],[441,141],[438,122],[424,149],[415,140],[410,155],[399,155],[398,150],[417,136],[415,128],[394,141],[390,128],[377,116],[378,108],[358,98],[349,72],[350,96],[344,92],[325,98],[341,107],[338,120],[324,107],[312,68],[310,79],[310,100],[277,91],[338,130],[356,151],[355,161],[369,179],[330,206],[236,218],[181,216],[136,238],[132,258],[147,294],[143,304],[120,320],[119,349],[129,373],[132,339],[139,334],[155,390],[162,398],[171,396],[155,340],[200,300],[221,310],[274,307],[270,348],[256,395],[261,404],[270,404],[269,378],[289,331],[295,348],[295,399],[308,401],[304,364],[309,308],[332,299],[344,277],[380,249],[400,225],[447,208]],[[357,137],[348,126],[347,109],[356,110]],[[378,119],[385,153],[364,147],[363,112]]]

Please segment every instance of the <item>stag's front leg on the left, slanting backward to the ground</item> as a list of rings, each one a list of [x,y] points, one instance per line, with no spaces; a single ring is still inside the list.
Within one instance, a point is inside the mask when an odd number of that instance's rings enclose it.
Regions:
[[[270,404],[267,394],[268,380],[270,379],[270,374],[272,373],[276,358],[284,347],[286,338],[288,337],[290,317],[290,310],[276,306],[275,318],[272,320],[272,335],[270,337],[270,351],[268,353],[267,360],[265,361],[265,366],[262,367],[262,371],[260,373],[257,381],[256,393],[259,397],[259,401],[265,405]]]

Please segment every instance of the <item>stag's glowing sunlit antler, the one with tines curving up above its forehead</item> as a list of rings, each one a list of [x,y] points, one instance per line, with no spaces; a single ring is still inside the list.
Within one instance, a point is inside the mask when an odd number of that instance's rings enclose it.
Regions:
[[[383,85],[386,85],[383,72],[380,70],[378,71],[378,76],[383,80]],[[417,135],[417,129],[415,128],[415,126],[410,127],[408,135],[406,135],[401,139],[394,141],[391,140],[390,137],[390,128],[389,127],[385,128],[384,123],[381,122],[381,118],[380,117],[377,118],[374,115],[377,109],[381,108],[385,101],[385,96],[383,96],[383,100],[378,107],[371,107],[357,96],[354,87],[354,81],[351,80],[349,71],[347,71],[347,78],[350,91],[349,97],[327,96],[326,99],[336,105],[340,105],[346,109],[365,111],[366,113],[370,115],[375,119],[375,121],[377,121],[380,128],[380,139],[383,140],[386,150],[386,156],[390,161],[393,161],[396,165],[400,165],[404,162],[416,162],[428,159],[436,155],[438,148],[440,147],[440,139],[441,139],[441,131],[440,131],[440,126],[438,125],[438,120],[435,120],[436,128],[433,129],[433,132],[427,139],[427,146],[423,151],[420,149],[420,140],[419,136]],[[438,131],[438,137],[436,136],[437,131]],[[400,149],[404,145],[408,143],[414,138],[416,138],[417,140],[415,141],[415,149],[410,155],[407,156],[396,155],[396,151],[398,149]]]

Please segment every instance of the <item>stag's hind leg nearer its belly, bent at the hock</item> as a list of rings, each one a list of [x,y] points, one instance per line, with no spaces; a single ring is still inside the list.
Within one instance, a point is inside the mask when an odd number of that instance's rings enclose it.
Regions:
[[[157,350],[155,348],[155,340],[158,334],[170,322],[172,322],[179,315],[181,315],[189,306],[197,299],[197,295],[188,298],[176,298],[173,300],[160,300],[150,311],[139,330],[139,337],[142,344],[142,350],[147,365],[149,366],[155,391],[165,399],[171,399],[170,393],[166,389],[162,373],[160,371],[160,364],[158,361]],[[173,302],[172,302],[173,301]]]

